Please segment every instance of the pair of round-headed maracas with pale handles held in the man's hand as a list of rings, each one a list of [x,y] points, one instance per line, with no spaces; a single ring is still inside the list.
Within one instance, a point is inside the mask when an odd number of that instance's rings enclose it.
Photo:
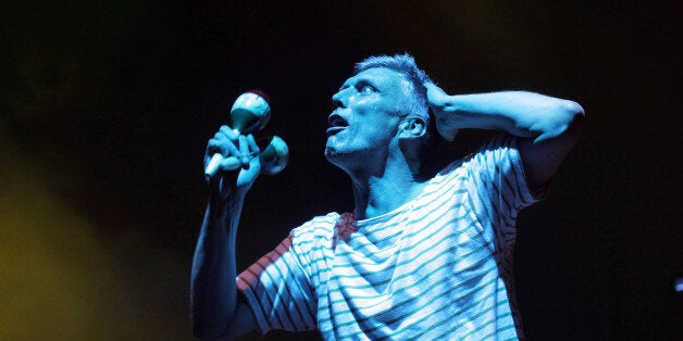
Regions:
[[[268,96],[259,90],[250,90],[240,94],[231,109],[233,130],[238,135],[261,130],[270,119],[271,108],[268,103]],[[262,139],[259,140],[261,141]],[[271,137],[269,144],[265,148],[261,148],[259,159],[261,161],[261,173],[266,175],[280,173],[285,168],[289,160],[287,143],[277,136]],[[213,154],[204,169],[207,178],[215,175],[223,160],[223,155],[220,153]],[[227,171],[234,171],[240,166],[241,162],[237,157],[228,157],[226,160],[225,169]]]

